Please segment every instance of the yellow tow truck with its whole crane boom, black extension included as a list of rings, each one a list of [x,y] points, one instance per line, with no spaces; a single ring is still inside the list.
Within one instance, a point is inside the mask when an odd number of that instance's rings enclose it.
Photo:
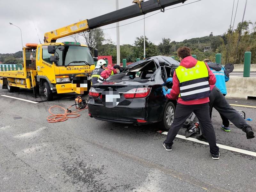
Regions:
[[[88,46],[76,42],[56,43],[57,39],[152,11],[164,12],[165,7],[185,1],[134,0],[135,4],[131,6],[47,32],[44,34],[44,44],[26,44],[23,47],[22,67],[13,65],[7,69],[6,66],[0,66],[0,83],[9,92],[15,92],[19,88],[33,88],[35,96],[38,87],[39,94],[44,95],[46,100],[52,100],[55,92],[86,94],[91,87],[88,76],[94,69],[98,50],[94,49],[93,58]]]

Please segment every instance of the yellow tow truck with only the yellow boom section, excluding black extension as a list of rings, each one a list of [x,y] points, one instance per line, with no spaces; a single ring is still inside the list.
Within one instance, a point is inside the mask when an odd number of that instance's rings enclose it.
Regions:
[[[88,94],[91,87],[88,77],[95,67],[98,50],[94,49],[95,57],[92,57],[87,45],[68,41],[56,43],[58,38],[85,30],[88,30],[86,20],[45,33],[44,44],[26,44],[22,65],[0,65],[3,89],[9,92],[33,89],[35,96],[39,91],[39,95],[49,101],[54,93]],[[77,79],[83,89],[77,86]]]

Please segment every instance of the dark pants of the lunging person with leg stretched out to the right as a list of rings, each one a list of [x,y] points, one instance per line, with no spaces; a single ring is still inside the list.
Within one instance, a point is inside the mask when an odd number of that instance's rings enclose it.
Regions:
[[[210,116],[212,117],[212,108],[214,107],[219,113],[220,116],[224,116],[225,119],[230,120],[236,127],[243,129],[246,126],[249,126],[244,118],[236,111],[236,109],[232,108],[228,102],[226,101],[225,97],[222,95],[220,90],[215,86],[210,94]],[[223,119],[222,119],[223,121]],[[229,125],[229,122],[223,125],[225,127],[227,124]],[[251,127],[251,126],[249,126]]]

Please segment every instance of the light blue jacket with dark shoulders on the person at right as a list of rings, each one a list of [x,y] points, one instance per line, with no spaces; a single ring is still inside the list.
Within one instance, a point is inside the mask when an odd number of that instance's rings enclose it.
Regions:
[[[229,80],[228,72],[225,70],[224,67],[222,67],[218,63],[207,63],[207,64],[216,77],[215,86],[218,87],[218,89],[222,94],[226,95],[227,94],[226,82]]]

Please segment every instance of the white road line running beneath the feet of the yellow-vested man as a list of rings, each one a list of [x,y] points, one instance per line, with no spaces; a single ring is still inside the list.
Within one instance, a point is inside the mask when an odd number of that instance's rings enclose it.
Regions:
[[[167,135],[168,132],[162,132],[162,134],[164,135]],[[192,137],[188,137],[186,138],[185,136],[183,135],[176,135],[177,138],[180,138],[180,139],[185,139],[185,140],[189,140],[189,141],[194,141],[194,142],[197,142],[197,143],[202,143],[202,144],[205,144],[205,145],[209,145],[209,143],[206,143],[204,141],[200,141],[200,140],[197,140],[195,138],[192,138]],[[247,151],[247,150],[244,150],[244,149],[239,149],[239,148],[234,148],[234,147],[229,147],[229,146],[226,146],[226,145],[221,145],[221,144],[217,144],[217,146],[219,148],[222,148],[222,149],[227,149],[227,150],[230,150],[230,151],[235,151],[235,152],[238,152],[238,153],[243,153],[243,154],[246,154],[246,155],[251,155],[251,156],[255,156],[256,157],[256,152],[252,152],[252,151]]]

